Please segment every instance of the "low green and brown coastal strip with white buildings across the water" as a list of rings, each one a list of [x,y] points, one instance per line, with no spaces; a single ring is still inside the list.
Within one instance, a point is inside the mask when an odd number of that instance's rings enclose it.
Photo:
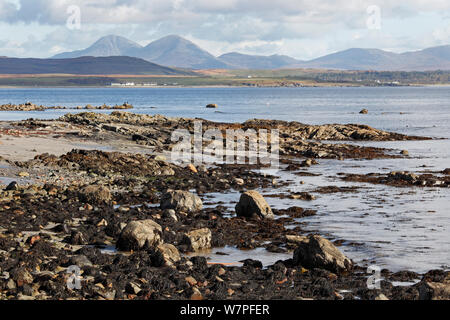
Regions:
[[[199,70],[196,75],[0,75],[0,87],[329,87],[449,85],[450,71]]]

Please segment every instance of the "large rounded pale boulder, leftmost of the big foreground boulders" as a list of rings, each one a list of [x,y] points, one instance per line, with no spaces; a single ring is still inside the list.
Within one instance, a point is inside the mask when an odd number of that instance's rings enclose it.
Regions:
[[[122,230],[117,247],[129,251],[158,246],[161,232],[161,226],[153,220],[132,221]]]

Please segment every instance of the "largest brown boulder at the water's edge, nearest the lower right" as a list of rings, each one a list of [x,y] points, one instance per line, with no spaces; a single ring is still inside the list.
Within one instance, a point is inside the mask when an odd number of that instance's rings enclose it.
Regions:
[[[294,264],[302,267],[322,268],[331,272],[341,272],[352,268],[352,261],[339,251],[330,241],[310,235],[299,243],[294,251]]]

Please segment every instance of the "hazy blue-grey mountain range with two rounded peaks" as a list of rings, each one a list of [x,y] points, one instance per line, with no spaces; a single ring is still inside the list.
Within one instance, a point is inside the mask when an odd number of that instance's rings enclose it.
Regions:
[[[55,59],[82,56],[131,56],[159,65],[186,69],[282,69],[317,68],[376,71],[450,70],[450,45],[420,51],[393,53],[353,48],[310,61],[283,55],[247,55],[237,52],[215,57],[180,36],[170,35],[143,47],[120,36],[106,36],[84,50],[60,53]]]

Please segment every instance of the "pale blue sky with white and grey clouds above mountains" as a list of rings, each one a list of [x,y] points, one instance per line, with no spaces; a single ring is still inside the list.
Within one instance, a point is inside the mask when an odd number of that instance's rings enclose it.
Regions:
[[[0,0],[0,56],[47,58],[110,34],[177,34],[214,55],[405,52],[450,44],[450,0]]]

